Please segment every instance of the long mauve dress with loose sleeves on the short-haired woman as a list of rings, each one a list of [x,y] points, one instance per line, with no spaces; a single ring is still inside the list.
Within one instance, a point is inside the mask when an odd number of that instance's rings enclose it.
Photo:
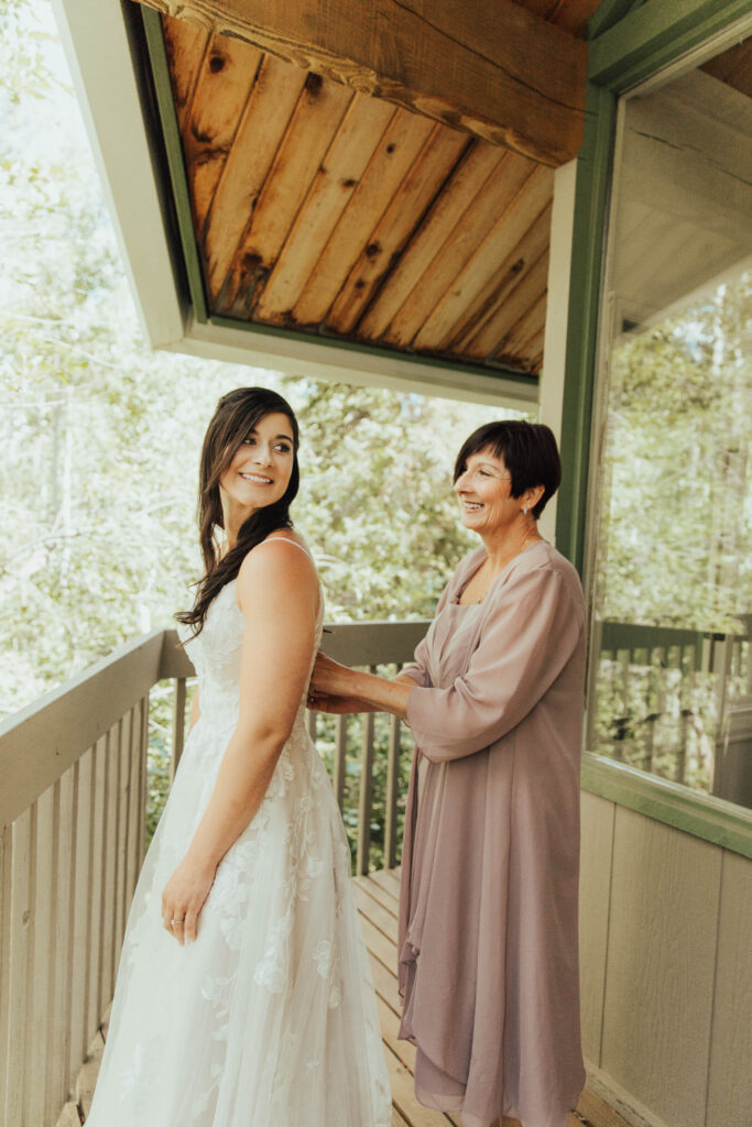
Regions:
[[[572,565],[537,541],[483,603],[467,556],[404,672],[416,756],[399,914],[400,1037],[421,1102],[564,1127],[585,1081],[577,880],[585,633]],[[419,778],[418,778],[419,775]],[[418,793],[419,792],[419,793]]]

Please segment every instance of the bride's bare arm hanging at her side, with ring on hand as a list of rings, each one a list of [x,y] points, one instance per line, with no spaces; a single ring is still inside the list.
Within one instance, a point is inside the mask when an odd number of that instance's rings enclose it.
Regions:
[[[214,873],[262,804],[306,690],[315,645],[316,571],[291,544],[267,543],[244,560],[237,584],[245,620],[238,725],[206,811],[162,894],[163,920],[192,940]],[[168,925],[168,924],[166,924]]]

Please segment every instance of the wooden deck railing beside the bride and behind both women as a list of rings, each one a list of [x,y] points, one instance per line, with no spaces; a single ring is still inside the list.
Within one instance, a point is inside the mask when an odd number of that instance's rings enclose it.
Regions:
[[[331,628],[324,649],[380,672],[409,660],[425,622]],[[386,667],[386,668],[384,668]],[[0,726],[0,1112],[54,1127],[113,995],[144,850],[149,695],[175,683],[174,764],[193,667],[175,631],[138,639]],[[342,804],[348,733],[334,722]],[[356,867],[369,871],[373,716],[362,722]],[[319,721],[321,724],[321,721]],[[309,717],[310,730],[317,719]],[[384,859],[397,859],[399,724],[388,740]],[[352,744],[352,740],[351,740]]]

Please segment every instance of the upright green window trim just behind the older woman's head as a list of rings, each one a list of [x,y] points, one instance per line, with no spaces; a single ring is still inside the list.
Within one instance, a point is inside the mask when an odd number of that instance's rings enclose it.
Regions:
[[[577,161],[574,237],[567,317],[561,486],[556,547],[584,573],[587,476],[595,385],[595,349],[603,247],[608,220],[616,98],[587,83],[585,135]]]

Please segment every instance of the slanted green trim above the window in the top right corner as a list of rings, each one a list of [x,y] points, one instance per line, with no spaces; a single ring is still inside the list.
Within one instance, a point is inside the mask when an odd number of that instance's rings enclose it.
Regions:
[[[589,78],[620,94],[750,12],[752,0],[652,0],[591,42]]]

